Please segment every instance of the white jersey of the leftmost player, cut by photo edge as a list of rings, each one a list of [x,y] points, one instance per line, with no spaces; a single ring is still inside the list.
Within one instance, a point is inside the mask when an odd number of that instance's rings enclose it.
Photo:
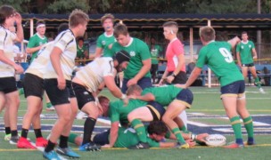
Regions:
[[[12,33],[8,29],[0,26],[0,50],[4,52],[5,57],[14,61],[13,57],[13,40],[16,38],[16,34]],[[0,77],[14,76],[15,69],[0,61]]]

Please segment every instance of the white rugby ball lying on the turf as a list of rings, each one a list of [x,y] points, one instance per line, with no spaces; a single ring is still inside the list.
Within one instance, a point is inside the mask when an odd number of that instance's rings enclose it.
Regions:
[[[221,134],[209,134],[209,136],[207,136],[205,140],[207,146],[210,147],[219,147],[226,144],[226,137]]]

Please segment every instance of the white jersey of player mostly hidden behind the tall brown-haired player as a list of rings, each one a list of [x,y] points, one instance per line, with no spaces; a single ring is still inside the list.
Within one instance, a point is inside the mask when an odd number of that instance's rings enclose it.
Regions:
[[[54,41],[45,44],[45,47],[41,48],[37,52],[37,58],[34,59],[25,73],[29,73],[40,78],[44,78],[46,67],[50,61],[50,53],[53,50]]]

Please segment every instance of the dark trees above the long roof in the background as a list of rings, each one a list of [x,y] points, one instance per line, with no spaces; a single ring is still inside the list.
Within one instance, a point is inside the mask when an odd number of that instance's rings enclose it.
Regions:
[[[21,13],[66,14],[75,8],[87,13],[256,13],[257,0],[0,0]],[[261,0],[261,13],[270,13],[271,0]]]

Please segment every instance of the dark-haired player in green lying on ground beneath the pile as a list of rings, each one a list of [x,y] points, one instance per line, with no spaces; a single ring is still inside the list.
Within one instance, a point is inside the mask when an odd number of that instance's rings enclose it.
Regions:
[[[162,121],[152,121],[147,127],[145,127],[146,132],[148,132],[147,141],[151,148],[175,148],[177,146],[176,142],[166,142],[165,138],[176,139],[175,136],[168,131],[168,127]],[[93,141],[96,144],[103,145],[102,148],[109,147],[110,131],[98,133],[93,137]],[[134,148],[136,144],[139,143],[139,139],[136,135],[136,131],[133,128],[119,127],[119,136],[114,144],[114,148]],[[193,135],[192,133],[183,133],[185,140],[189,143],[190,147],[196,145],[195,141],[204,141],[204,138],[209,134],[202,133],[199,135]],[[78,146],[82,143],[82,137],[70,133],[69,141],[77,144]]]

